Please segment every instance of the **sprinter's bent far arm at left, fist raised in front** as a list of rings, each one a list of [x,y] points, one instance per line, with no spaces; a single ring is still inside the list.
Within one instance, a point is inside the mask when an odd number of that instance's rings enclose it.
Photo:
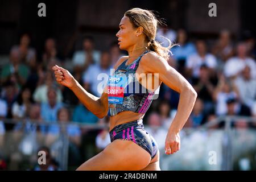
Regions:
[[[120,57],[120,59],[115,63],[114,69],[118,67],[120,62],[125,59],[126,56]],[[101,94],[101,97],[96,97],[93,94],[87,92],[78,81],[67,71],[67,69],[61,68],[57,65],[52,67],[53,71],[55,71],[56,81],[64,86],[67,86],[69,89],[75,93],[77,98],[84,104],[84,106],[91,111],[98,118],[105,117],[108,114],[108,86],[104,88],[104,92]]]

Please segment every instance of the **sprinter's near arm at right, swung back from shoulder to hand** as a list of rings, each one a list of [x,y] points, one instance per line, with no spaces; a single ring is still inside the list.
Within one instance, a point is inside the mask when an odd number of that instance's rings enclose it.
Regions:
[[[197,93],[192,85],[167,61],[156,53],[147,53],[142,57],[141,67],[145,73],[158,73],[159,81],[180,94],[177,113],[166,137],[166,154],[174,154],[180,149],[179,131],[187,122],[196,101]],[[170,150],[171,149],[171,150]]]

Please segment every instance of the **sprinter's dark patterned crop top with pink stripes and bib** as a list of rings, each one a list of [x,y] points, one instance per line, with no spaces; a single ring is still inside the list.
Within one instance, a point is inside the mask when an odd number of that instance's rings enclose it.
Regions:
[[[133,63],[126,65],[123,61],[115,72],[109,76],[108,81],[108,115],[117,115],[122,111],[133,111],[135,113],[146,113],[159,88],[151,92],[141,85],[135,76],[141,57],[149,52],[142,53]]]

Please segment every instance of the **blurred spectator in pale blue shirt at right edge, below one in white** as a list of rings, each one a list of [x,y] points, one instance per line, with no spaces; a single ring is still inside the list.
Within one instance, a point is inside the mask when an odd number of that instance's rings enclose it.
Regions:
[[[242,104],[251,108],[256,101],[256,80],[251,78],[250,72],[250,67],[246,65],[242,75],[236,78],[235,84],[237,85]]]

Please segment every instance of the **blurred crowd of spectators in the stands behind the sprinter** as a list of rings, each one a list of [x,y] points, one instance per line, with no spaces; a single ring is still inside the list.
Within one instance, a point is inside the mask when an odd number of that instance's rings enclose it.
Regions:
[[[208,40],[189,37],[183,29],[162,28],[156,40],[168,46],[162,36],[179,45],[171,48],[168,63],[192,84],[198,94],[184,127],[199,127],[223,115],[256,117],[254,35],[246,34],[238,40],[228,30],[222,30],[216,40]],[[110,143],[108,128],[89,130],[77,123],[108,126],[109,117],[98,119],[71,90],[57,84],[52,66],[57,64],[68,68],[89,93],[100,97],[97,89],[101,80],[97,76],[100,73],[109,75],[115,61],[126,52],[120,51],[116,42],[100,51],[94,46],[94,39],[86,36],[81,50],[73,52],[70,58],[63,58],[54,38],[45,40],[42,55],[37,54],[39,50],[30,42],[29,34],[20,36],[19,42],[10,49],[9,62],[1,65],[0,169],[7,168],[1,147],[10,140],[5,137],[9,131],[13,133],[11,141],[18,147],[11,149],[17,152],[6,159],[11,166],[9,168],[18,169],[17,161],[26,155],[35,154],[29,159],[35,162],[36,151],[42,147],[39,143],[43,143],[43,149],[50,153],[63,134],[69,141],[68,163],[77,166]],[[178,104],[179,94],[162,84],[158,100],[153,101],[144,117],[145,127],[160,148],[164,147],[163,138],[175,117]],[[3,122],[2,119],[12,122]],[[66,127],[61,127],[63,123]],[[221,127],[221,123],[215,126]],[[241,121],[235,122],[233,127],[255,128],[256,125]],[[51,161],[52,165],[32,169],[59,169],[60,161]]]

